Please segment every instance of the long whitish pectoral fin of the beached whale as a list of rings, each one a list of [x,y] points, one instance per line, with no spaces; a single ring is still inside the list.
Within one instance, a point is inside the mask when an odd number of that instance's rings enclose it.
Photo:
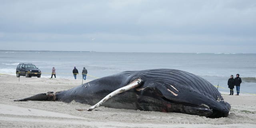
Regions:
[[[110,94],[108,94],[107,96],[105,96],[102,100],[100,100],[100,102],[98,102],[97,104],[95,104],[94,106],[88,108],[88,109],[76,109],[78,111],[84,111],[84,110],[88,110],[91,111],[94,108],[97,108],[98,106],[100,106],[101,104],[103,104],[106,100],[110,99],[111,97],[115,96],[116,94],[128,91],[132,88],[136,88],[138,86],[140,86],[142,84],[142,79],[138,78],[136,80],[134,80],[133,82],[130,82],[130,84],[122,87],[122,88],[118,88],[117,90],[115,90],[114,92],[111,92]]]

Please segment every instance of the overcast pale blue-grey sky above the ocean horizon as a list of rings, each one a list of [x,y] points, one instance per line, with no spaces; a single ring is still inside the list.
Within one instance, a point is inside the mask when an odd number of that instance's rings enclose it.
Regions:
[[[0,0],[0,50],[256,53],[256,0]]]

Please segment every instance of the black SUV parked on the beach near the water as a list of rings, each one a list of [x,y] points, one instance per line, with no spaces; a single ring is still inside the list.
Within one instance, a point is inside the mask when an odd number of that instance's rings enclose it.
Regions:
[[[36,68],[34,64],[24,64],[20,63],[18,64],[16,68],[16,76],[26,76],[26,77],[32,77],[32,76],[37,76],[38,78],[41,77],[41,70]]]

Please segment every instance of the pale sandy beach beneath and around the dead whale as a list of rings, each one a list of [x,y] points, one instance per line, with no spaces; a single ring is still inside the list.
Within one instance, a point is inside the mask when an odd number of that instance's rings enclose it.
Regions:
[[[23,76],[19,82],[16,76],[0,75],[0,128],[256,128],[256,96],[248,94],[229,96],[222,92],[232,107],[226,118],[102,106],[91,112],[80,112],[75,109],[90,105],[74,101],[13,101],[38,93],[68,90],[81,83],[82,80]]]

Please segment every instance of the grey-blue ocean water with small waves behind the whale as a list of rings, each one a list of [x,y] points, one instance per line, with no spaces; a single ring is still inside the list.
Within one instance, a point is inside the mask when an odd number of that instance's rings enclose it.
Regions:
[[[240,93],[256,94],[256,54],[0,50],[0,74],[16,75],[19,63],[35,64],[44,78],[50,78],[52,67],[55,67],[57,78],[74,79],[72,70],[76,66],[81,83],[83,67],[88,70],[89,80],[129,70],[178,69],[196,74],[214,86],[219,85],[218,90],[222,92],[229,92],[230,75],[235,78],[240,74]]]

